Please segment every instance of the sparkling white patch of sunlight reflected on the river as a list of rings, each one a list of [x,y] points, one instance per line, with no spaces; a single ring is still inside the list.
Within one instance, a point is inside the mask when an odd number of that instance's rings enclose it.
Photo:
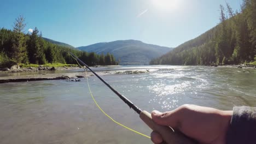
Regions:
[[[170,110],[179,105],[179,100],[206,88],[208,81],[205,74],[195,74],[186,67],[169,67],[150,74],[149,92],[155,97],[149,103],[161,104],[162,109]],[[153,80],[154,79],[154,80]]]

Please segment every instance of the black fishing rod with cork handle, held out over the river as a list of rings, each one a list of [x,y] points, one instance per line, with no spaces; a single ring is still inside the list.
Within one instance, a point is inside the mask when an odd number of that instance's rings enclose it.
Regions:
[[[166,127],[162,125],[158,125],[152,120],[152,116],[149,112],[147,111],[142,111],[139,109],[135,104],[133,104],[129,99],[127,99],[124,95],[120,94],[117,90],[115,90],[112,86],[109,85],[108,82],[103,80],[98,74],[95,73],[94,70],[92,70],[90,67],[88,67],[87,64],[85,64],[83,61],[81,61],[77,56],[73,55],[73,53],[68,52],[71,54],[72,57],[74,57],[77,61],[82,63],[87,69],[89,69],[95,76],[98,77],[108,88],[110,88],[115,94],[118,95],[118,97],[126,103],[130,109],[135,110],[138,114],[139,117],[142,119],[144,123],[146,123],[152,130],[158,132],[161,134],[162,139],[165,142],[169,142],[170,144],[195,144],[196,142],[189,137],[185,136],[181,132],[177,130],[173,130],[171,127]]]

